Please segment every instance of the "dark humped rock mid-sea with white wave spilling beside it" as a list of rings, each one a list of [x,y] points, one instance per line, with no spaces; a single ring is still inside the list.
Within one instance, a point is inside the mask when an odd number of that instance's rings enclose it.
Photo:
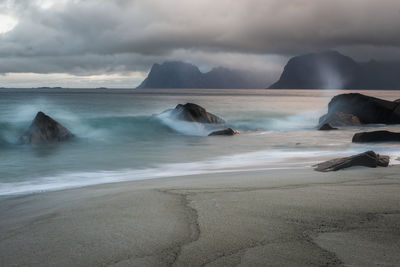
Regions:
[[[171,115],[176,116],[179,120],[199,122],[199,123],[214,123],[221,124],[225,123],[220,117],[209,113],[205,108],[193,104],[187,103],[185,105],[177,105],[175,109],[171,111]]]

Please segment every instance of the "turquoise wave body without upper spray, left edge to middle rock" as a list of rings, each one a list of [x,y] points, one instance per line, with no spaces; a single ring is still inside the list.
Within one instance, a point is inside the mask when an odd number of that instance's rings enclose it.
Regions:
[[[49,114],[52,116],[51,114]],[[223,126],[204,125],[186,122],[163,115],[156,116],[105,116],[92,118],[54,117],[68,128],[78,139],[112,140],[132,139],[148,136],[168,135],[207,136]],[[31,121],[0,122],[0,145],[16,144],[19,137],[28,129]]]

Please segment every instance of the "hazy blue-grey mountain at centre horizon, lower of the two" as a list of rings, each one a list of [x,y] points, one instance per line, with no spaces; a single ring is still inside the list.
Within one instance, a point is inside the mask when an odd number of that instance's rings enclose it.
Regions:
[[[228,68],[203,73],[195,65],[180,61],[154,64],[138,88],[265,88],[265,75]]]

